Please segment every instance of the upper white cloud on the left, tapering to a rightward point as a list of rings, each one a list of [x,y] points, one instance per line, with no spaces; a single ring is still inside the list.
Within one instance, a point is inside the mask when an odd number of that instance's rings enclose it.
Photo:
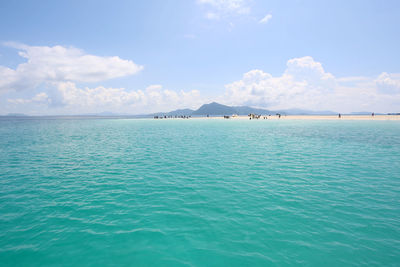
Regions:
[[[142,66],[117,56],[100,57],[73,47],[6,43],[27,60],[16,69],[0,66],[0,92],[34,89],[49,82],[99,82],[132,75]]]

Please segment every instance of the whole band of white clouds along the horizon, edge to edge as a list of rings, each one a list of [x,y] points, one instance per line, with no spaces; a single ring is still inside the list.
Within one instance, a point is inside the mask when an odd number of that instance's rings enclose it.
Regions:
[[[246,72],[227,83],[225,90],[202,96],[198,90],[175,91],[162,85],[143,90],[80,86],[143,70],[131,60],[101,57],[64,46],[28,46],[7,43],[27,61],[15,69],[0,66],[0,97],[7,98],[1,112],[79,114],[114,111],[149,113],[196,108],[206,102],[251,105],[269,109],[303,108],[340,112],[398,112],[400,74],[382,72],[376,77],[335,77],[311,56],[292,58],[280,76],[263,70]],[[30,92],[32,97],[23,97]],[[9,97],[21,95],[21,97]]]

